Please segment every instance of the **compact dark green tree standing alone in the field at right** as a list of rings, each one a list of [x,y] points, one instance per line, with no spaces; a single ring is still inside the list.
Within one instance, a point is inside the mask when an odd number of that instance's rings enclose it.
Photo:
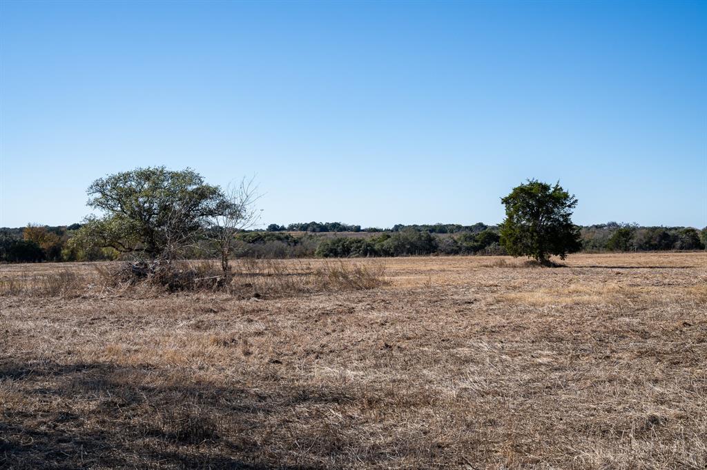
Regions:
[[[501,202],[506,205],[501,244],[510,255],[528,256],[548,265],[550,255],[563,260],[582,248],[579,227],[572,223],[577,198],[559,183],[552,186],[530,179],[513,188]]]

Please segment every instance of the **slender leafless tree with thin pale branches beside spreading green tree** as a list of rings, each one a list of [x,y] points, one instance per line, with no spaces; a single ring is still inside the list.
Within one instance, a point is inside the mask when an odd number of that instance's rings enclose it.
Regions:
[[[216,243],[221,255],[221,269],[224,277],[230,277],[228,260],[233,251],[235,234],[255,227],[260,219],[260,212],[255,207],[260,195],[257,193],[254,179],[242,179],[240,183],[229,183],[223,191],[224,200],[221,210],[216,211],[207,220],[206,237]]]

